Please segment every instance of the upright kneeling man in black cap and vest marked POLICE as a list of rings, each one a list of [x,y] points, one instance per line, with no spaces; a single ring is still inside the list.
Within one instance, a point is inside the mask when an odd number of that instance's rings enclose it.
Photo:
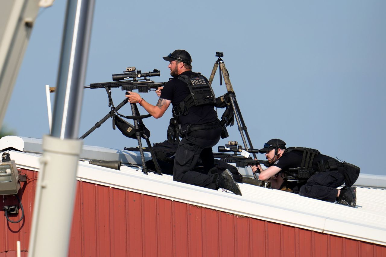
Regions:
[[[215,172],[212,147],[220,140],[222,127],[214,110],[215,95],[208,79],[191,71],[192,60],[185,50],[175,50],[163,59],[169,61],[173,78],[156,91],[157,104],[147,103],[135,92],[129,92],[126,97],[130,103],[139,103],[154,118],[162,117],[172,104],[176,128],[182,137],[174,157],[173,180],[215,190],[223,188],[241,195],[229,170]],[[205,173],[194,171],[199,157]]]

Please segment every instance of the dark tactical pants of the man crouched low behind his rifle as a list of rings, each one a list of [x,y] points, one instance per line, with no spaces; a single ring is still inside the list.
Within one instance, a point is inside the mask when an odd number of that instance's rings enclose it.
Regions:
[[[311,176],[300,188],[300,195],[318,200],[335,202],[338,194],[337,187],[344,183],[343,168],[325,171]]]

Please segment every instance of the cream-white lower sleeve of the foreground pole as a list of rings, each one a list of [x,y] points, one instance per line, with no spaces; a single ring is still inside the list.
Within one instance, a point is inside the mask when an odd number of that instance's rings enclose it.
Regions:
[[[43,136],[29,257],[68,256],[82,140]]]

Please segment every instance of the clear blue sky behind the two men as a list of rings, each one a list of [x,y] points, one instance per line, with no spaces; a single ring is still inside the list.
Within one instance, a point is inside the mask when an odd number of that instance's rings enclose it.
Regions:
[[[64,2],[41,10],[34,25],[4,120],[17,135],[49,134],[44,85],[56,85]],[[193,71],[209,77],[221,51],[255,148],[279,138],[356,164],[362,173],[385,174],[379,164],[386,145],[384,10],[382,0],[97,0],[85,85],[111,81],[128,66],[159,69],[154,80],[167,81],[162,56],[175,49],[190,52]],[[226,90],[216,75],[219,96]],[[155,93],[142,97],[157,101]],[[113,100],[117,105],[124,93],[113,89]],[[109,112],[107,103],[104,89],[84,91],[79,135]],[[129,105],[121,113],[130,115]],[[170,117],[167,110],[144,120],[152,143],[166,139]],[[228,131],[218,145],[242,142],[237,126]],[[108,120],[84,144],[123,149],[136,140]]]

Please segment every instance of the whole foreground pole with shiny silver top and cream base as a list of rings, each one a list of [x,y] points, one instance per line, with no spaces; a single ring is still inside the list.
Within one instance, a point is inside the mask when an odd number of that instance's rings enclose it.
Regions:
[[[67,257],[82,148],[80,109],[95,0],[68,0],[51,135],[43,137],[29,257]]]

